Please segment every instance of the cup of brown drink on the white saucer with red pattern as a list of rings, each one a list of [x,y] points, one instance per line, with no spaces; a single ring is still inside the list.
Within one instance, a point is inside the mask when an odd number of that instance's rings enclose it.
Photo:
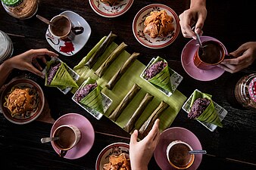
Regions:
[[[71,20],[65,15],[57,15],[50,21],[52,24],[48,26],[52,36],[61,39],[64,42],[70,42],[75,36],[83,33],[83,26],[73,26]]]

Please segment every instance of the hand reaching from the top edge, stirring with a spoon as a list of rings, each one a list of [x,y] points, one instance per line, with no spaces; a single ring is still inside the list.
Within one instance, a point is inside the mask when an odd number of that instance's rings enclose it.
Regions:
[[[183,36],[186,38],[196,39],[195,32],[202,35],[202,28],[204,20],[207,17],[207,9],[205,0],[191,1],[190,8],[180,14],[180,28]],[[192,31],[191,26],[195,24],[195,32]]]

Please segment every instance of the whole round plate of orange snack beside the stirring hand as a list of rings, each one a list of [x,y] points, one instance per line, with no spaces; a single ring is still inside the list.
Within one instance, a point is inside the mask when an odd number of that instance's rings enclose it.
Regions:
[[[164,48],[174,42],[180,32],[179,17],[166,5],[152,4],[142,8],[133,20],[133,34],[148,48]]]

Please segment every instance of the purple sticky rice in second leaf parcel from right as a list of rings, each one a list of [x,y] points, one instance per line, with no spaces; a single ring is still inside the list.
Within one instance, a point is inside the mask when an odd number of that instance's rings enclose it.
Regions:
[[[145,79],[151,79],[152,77],[160,73],[161,70],[164,70],[165,66],[167,66],[167,63],[162,60],[154,63],[147,70],[145,70]]]

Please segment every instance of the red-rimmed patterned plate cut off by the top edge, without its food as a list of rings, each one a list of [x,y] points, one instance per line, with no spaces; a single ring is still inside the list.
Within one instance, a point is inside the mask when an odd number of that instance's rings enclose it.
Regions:
[[[118,17],[130,9],[133,5],[133,0],[123,0],[112,7],[102,3],[100,0],[89,0],[89,3],[93,11],[102,17]]]

